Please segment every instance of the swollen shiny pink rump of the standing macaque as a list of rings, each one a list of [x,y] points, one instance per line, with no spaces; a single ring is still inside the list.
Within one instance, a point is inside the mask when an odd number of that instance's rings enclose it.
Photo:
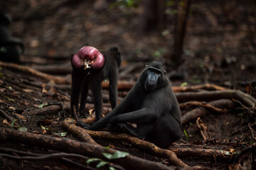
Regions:
[[[105,64],[105,57],[92,46],[82,47],[71,59],[76,69],[101,69]]]

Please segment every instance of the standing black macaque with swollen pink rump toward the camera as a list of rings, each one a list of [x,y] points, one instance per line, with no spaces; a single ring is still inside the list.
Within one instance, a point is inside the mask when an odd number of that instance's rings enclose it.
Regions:
[[[96,120],[102,118],[102,81],[110,79],[110,103],[112,109],[117,106],[117,79],[121,64],[121,55],[117,47],[99,52],[95,47],[82,47],[71,57],[72,87],[70,108],[78,120],[78,100],[80,98],[80,115],[85,114],[88,89],[92,90],[95,104]],[[81,95],[80,95],[81,94]],[[74,107],[75,106],[75,112]]]

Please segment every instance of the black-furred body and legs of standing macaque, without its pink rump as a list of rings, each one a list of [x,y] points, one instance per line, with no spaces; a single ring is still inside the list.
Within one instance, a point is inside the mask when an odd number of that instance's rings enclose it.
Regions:
[[[75,69],[72,71],[72,87],[71,87],[71,113],[78,114],[78,99],[80,99],[80,115],[85,114],[85,103],[88,94],[88,89],[92,90],[92,95],[95,101],[96,120],[102,118],[102,81],[106,78],[110,79],[110,103],[112,109],[117,106],[117,79],[118,69],[121,64],[121,56],[117,47],[112,47],[110,50],[101,51],[105,57],[104,67],[100,70],[95,69]],[[74,114],[74,108],[76,113]]]

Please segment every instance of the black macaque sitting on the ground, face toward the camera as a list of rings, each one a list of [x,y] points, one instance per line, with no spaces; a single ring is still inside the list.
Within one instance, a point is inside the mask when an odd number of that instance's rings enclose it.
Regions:
[[[181,137],[181,111],[160,62],[146,66],[137,83],[112,112],[93,125],[78,124],[88,130],[108,127],[112,132],[127,132],[161,148],[168,148]]]

